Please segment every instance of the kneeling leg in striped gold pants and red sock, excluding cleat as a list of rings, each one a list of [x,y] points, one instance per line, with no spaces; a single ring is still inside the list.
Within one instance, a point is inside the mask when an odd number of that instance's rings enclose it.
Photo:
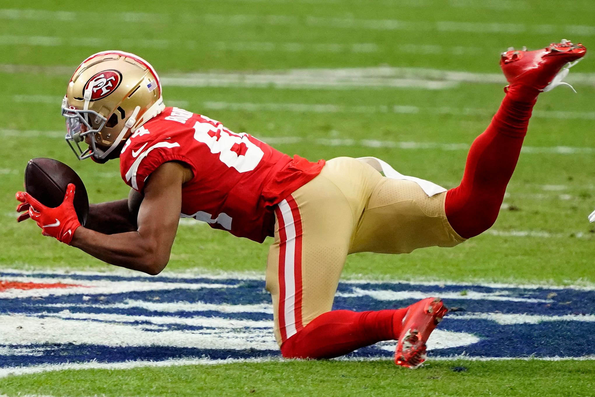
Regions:
[[[380,179],[369,165],[333,159],[275,210],[267,289],[284,357],[338,357],[401,335],[407,308],[331,311],[355,224]]]

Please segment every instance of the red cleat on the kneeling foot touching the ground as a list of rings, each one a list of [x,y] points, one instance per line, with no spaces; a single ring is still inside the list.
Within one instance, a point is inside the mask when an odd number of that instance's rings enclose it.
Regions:
[[[415,369],[425,361],[425,342],[448,309],[440,298],[425,298],[409,306],[394,352],[394,363]]]

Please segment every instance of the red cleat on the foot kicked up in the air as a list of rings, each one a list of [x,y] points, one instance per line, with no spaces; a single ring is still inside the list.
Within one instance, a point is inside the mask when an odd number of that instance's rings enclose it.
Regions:
[[[576,64],[575,61],[583,58],[586,52],[584,45],[572,44],[569,40],[552,43],[536,51],[509,48],[502,53],[500,67],[511,86],[520,84],[540,91],[549,91],[559,85],[570,86],[563,83],[562,79],[568,75],[568,69]],[[569,62],[574,63],[562,69]]]

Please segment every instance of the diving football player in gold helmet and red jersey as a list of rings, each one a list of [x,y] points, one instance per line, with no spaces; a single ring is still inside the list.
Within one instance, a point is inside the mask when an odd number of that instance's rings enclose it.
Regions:
[[[99,52],[68,83],[66,140],[81,160],[120,158],[129,199],[92,205],[83,227],[73,207],[74,185],[57,208],[18,192],[18,221],[30,217],[45,236],[148,274],[167,265],[180,217],[259,243],[272,236],[266,285],[284,357],[338,357],[396,339],[396,364],[418,367],[428,336],[447,312],[443,302],[332,311],[347,255],[452,247],[491,227],[538,94],[565,84],[569,62],[585,51],[562,40],[502,54],[506,96],[471,145],[461,185],[448,191],[372,157],[289,157],[205,115],[165,107],[147,61]]]

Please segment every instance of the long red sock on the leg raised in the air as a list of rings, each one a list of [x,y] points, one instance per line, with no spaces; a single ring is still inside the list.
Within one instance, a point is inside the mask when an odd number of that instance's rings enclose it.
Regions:
[[[538,93],[511,87],[490,126],[471,145],[461,185],[446,193],[444,204],[450,226],[461,237],[477,236],[496,221]]]

